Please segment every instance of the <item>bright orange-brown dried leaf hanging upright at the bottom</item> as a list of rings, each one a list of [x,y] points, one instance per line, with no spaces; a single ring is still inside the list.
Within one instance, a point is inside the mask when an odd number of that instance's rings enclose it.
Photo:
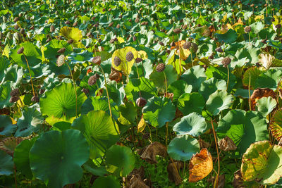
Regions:
[[[201,149],[200,153],[192,156],[189,163],[189,182],[197,182],[204,179],[212,172],[212,155],[207,149]]]

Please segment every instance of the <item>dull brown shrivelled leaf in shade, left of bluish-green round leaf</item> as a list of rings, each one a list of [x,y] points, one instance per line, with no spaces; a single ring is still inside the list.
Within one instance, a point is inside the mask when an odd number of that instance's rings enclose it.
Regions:
[[[159,142],[154,142],[152,144],[149,144],[149,146],[146,146],[145,149],[143,149],[140,157],[142,159],[145,159],[148,163],[158,163],[156,160],[156,156],[162,156],[166,157],[166,146]]]

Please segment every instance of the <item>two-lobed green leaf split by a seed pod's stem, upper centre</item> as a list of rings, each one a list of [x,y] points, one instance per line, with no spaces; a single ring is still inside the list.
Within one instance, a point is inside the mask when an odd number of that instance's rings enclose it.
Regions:
[[[164,74],[166,74],[166,78],[164,77]],[[164,92],[167,86],[172,84],[177,80],[177,73],[176,70],[173,68],[173,65],[166,65],[166,68],[163,72],[157,72],[154,71],[149,76],[150,80],[154,82],[154,85],[161,90],[161,92]]]

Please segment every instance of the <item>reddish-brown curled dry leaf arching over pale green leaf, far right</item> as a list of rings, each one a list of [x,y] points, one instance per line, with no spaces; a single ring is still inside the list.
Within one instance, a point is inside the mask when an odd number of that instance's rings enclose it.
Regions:
[[[257,100],[261,99],[262,97],[267,97],[267,96],[271,96],[273,99],[276,99],[276,94],[272,89],[269,89],[269,88],[255,89],[255,91],[252,93],[252,96],[251,96],[252,111],[255,111]]]

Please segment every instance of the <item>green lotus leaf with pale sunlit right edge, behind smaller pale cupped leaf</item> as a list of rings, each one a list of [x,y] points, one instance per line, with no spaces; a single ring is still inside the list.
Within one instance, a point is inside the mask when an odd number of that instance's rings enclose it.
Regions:
[[[216,92],[216,90],[224,90],[226,89],[226,81],[219,80],[214,77],[209,80],[205,80],[202,82],[201,87],[199,89],[199,93],[204,96],[204,99],[209,99],[209,96]]]

